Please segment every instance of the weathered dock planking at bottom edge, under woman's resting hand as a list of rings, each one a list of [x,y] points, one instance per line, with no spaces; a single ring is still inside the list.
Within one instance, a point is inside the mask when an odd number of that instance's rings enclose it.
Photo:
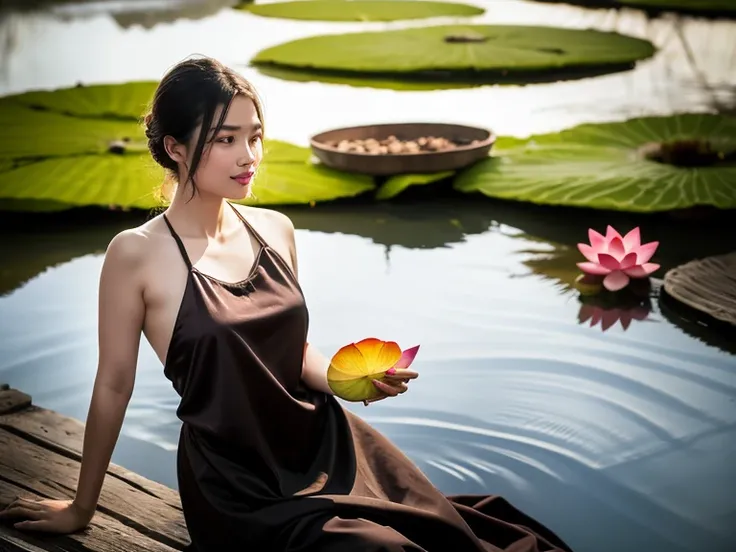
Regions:
[[[61,498],[40,495],[0,479],[0,507],[16,496],[27,498]],[[118,520],[97,513],[89,526],[71,535],[50,535],[21,532],[12,523],[0,523],[0,552],[174,552],[176,549],[161,544]]]

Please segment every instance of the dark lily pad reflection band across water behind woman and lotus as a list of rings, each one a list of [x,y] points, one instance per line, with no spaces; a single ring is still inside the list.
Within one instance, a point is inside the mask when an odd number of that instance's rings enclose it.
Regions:
[[[660,275],[694,258],[736,249],[736,236],[728,231],[729,223],[725,218],[690,224],[661,215],[595,212],[490,199],[479,202],[464,198],[408,204],[378,203],[370,208],[348,203],[315,208],[284,207],[280,210],[294,221],[300,231],[369,239],[383,247],[383,263],[388,267],[392,263],[392,252],[401,254],[403,250],[435,248],[454,250],[473,236],[498,234],[514,243],[507,253],[514,259],[509,277],[541,279],[560,296],[578,297],[577,300],[584,305],[594,305],[593,311],[590,307],[580,307],[574,314],[574,317],[583,316],[587,321],[597,323],[600,315],[600,322],[603,322],[603,311],[597,309],[625,309],[621,313],[623,327],[628,326],[625,322],[627,316],[638,321],[643,315],[643,311],[636,310],[636,307],[651,309],[650,304],[637,301],[639,298],[646,298],[647,302],[651,298],[656,299],[659,286],[655,286],[652,294],[648,293],[648,288],[643,294],[634,294],[633,303],[624,295],[638,291],[637,284],[642,282],[635,282],[623,290],[624,294],[579,297],[575,280],[580,271],[576,263],[584,259],[576,244],[587,240],[588,228],[605,231],[605,226],[612,224],[626,231],[641,226],[648,239],[660,241],[654,259],[662,265]],[[0,230],[5,239],[0,242],[0,255],[6,262],[0,269],[0,295],[13,291],[51,267],[85,255],[101,254],[115,233],[140,224],[148,216],[149,213],[141,211],[114,213],[95,209],[54,215],[4,213]],[[719,238],[713,239],[713,236]],[[612,301],[611,297],[615,300]],[[724,328],[709,328],[703,322],[691,323],[692,314],[685,317],[675,315],[672,307],[662,307],[662,311],[668,320],[682,326],[690,335],[723,350],[734,351],[733,343],[723,337]],[[590,312],[594,314],[588,316]],[[610,313],[602,326],[608,326],[607,322],[613,316],[614,313]],[[697,333],[693,334],[693,331]]]

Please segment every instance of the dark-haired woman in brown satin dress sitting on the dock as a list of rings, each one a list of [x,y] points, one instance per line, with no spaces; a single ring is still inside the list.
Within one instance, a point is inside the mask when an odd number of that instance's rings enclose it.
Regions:
[[[20,498],[3,517],[56,533],[89,523],[142,330],[181,396],[177,472],[193,549],[569,550],[502,499],[443,496],[332,396],[329,361],[306,342],[291,222],[227,201],[250,194],[263,156],[252,86],[215,60],[187,60],[145,121],[153,158],[178,184],[163,214],[115,236],[105,255],[76,497]],[[374,382],[378,399],[416,377],[401,369]]]

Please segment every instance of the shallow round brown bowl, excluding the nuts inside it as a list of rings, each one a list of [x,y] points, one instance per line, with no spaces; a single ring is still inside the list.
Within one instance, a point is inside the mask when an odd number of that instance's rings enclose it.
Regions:
[[[357,153],[338,151],[328,142],[341,140],[417,140],[435,136],[461,144],[446,151],[418,153]],[[472,144],[474,140],[478,140]],[[496,136],[487,129],[445,123],[395,123],[328,130],[312,136],[312,153],[326,166],[346,172],[387,176],[405,173],[433,173],[466,167],[488,157]],[[462,145],[467,144],[467,145]]]

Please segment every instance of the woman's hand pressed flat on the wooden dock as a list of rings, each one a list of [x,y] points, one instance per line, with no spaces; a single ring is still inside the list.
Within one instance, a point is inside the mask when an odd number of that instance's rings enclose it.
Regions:
[[[93,513],[83,511],[73,500],[16,498],[0,510],[0,519],[19,518],[16,529],[47,533],[73,533],[86,527]]]

